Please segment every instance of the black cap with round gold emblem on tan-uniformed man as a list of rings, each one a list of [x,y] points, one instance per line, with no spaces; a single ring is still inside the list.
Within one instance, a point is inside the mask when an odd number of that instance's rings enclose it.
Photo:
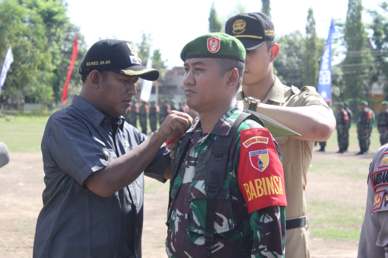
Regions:
[[[274,24],[262,12],[241,13],[230,17],[225,33],[238,38],[246,50],[255,50],[275,38]]]

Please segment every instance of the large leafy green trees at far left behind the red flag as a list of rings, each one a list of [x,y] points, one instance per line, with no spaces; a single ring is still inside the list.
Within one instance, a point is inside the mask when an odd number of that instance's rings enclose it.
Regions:
[[[46,106],[61,99],[76,33],[76,67],[86,52],[83,36],[65,13],[66,7],[57,0],[0,2],[0,54],[5,56],[9,45],[14,54],[0,101]],[[72,84],[80,85],[79,76],[71,78]]]

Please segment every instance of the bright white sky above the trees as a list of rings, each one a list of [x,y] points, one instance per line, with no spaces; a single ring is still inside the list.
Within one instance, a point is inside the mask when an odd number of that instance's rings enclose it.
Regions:
[[[181,66],[183,46],[208,32],[208,17],[213,1],[133,1],[67,0],[71,22],[80,27],[88,46],[99,39],[117,38],[140,43],[142,31],[151,34],[154,48],[159,48],[168,67]],[[364,8],[377,9],[383,0],[364,0]],[[226,21],[236,4],[247,12],[260,12],[261,0],[214,0],[218,17]],[[345,22],[348,0],[271,0],[272,22],[277,36],[299,30],[305,32],[307,11],[312,7],[317,34],[326,40],[333,17]],[[369,21],[368,15],[363,19]]]

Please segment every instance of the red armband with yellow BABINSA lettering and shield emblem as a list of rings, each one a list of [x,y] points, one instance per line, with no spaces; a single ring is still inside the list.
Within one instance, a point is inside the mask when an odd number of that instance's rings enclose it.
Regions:
[[[248,213],[268,206],[287,206],[284,172],[267,128],[240,131],[239,187]]]

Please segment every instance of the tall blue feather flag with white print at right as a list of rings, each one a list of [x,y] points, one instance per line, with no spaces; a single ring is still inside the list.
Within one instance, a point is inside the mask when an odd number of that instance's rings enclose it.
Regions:
[[[334,20],[331,19],[329,36],[319,65],[318,93],[328,102],[331,101],[331,38],[334,33]]]

